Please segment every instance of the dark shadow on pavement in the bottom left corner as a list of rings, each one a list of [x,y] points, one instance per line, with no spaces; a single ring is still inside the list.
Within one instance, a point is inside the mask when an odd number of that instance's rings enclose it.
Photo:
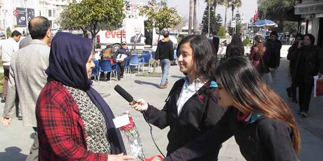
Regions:
[[[5,152],[0,152],[0,160],[26,160],[27,155],[21,153],[21,151],[22,149],[18,147],[8,147],[5,149]]]

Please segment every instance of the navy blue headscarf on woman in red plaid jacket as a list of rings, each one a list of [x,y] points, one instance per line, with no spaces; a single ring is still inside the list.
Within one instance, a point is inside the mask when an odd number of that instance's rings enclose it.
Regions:
[[[71,33],[58,32],[54,36],[49,54],[49,66],[46,70],[48,81],[58,81],[66,86],[86,91],[92,102],[103,114],[108,129],[108,141],[111,154],[125,153],[126,149],[120,131],[115,128],[114,115],[109,105],[91,87],[86,63],[92,52],[91,39]]]

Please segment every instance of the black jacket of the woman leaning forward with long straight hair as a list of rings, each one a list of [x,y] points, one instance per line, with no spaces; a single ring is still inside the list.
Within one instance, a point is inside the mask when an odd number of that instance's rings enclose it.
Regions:
[[[238,121],[237,109],[230,107],[214,128],[164,161],[184,161],[204,155],[233,135],[248,161],[297,161],[292,134],[288,124],[263,116],[254,123]]]

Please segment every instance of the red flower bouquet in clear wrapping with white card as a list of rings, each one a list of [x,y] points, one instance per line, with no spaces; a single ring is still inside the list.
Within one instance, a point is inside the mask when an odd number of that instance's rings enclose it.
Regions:
[[[135,123],[133,122],[133,119],[128,111],[120,114],[120,116],[128,116],[129,118],[129,124],[124,125],[120,127],[120,131],[124,133],[127,136],[129,147],[132,152],[132,154],[139,160],[139,161],[145,161],[145,154],[143,150],[142,141],[140,140],[140,136],[138,133],[138,130],[136,128]]]

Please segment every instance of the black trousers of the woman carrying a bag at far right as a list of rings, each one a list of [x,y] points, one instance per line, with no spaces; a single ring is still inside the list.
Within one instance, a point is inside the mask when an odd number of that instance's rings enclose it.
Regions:
[[[308,111],[312,96],[314,83],[305,83],[304,79],[298,82],[298,104],[299,110]]]

